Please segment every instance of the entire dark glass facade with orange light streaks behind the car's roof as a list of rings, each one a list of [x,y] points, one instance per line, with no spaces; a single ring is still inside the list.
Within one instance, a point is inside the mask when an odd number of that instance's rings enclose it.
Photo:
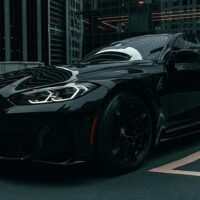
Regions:
[[[84,54],[137,35],[200,34],[200,0],[84,1]]]

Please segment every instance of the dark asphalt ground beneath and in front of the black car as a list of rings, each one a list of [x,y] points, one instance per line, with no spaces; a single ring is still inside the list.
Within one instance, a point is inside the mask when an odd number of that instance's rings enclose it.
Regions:
[[[3,200],[198,199],[199,141],[200,136],[190,136],[163,143],[139,169],[121,176],[99,173],[89,163],[73,166],[1,163],[0,197]],[[197,160],[179,167],[178,170],[196,172],[196,175],[150,171],[190,155]]]

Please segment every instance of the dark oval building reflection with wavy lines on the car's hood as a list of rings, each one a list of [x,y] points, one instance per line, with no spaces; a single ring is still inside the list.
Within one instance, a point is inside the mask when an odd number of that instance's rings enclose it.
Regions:
[[[44,87],[71,81],[72,71],[62,67],[36,67],[0,75],[0,89],[12,85],[15,90]]]

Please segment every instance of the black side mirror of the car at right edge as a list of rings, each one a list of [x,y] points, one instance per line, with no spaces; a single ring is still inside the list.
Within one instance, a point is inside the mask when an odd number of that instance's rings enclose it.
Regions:
[[[200,49],[182,49],[172,51],[171,61],[174,63],[190,63],[198,61],[200,58]]]

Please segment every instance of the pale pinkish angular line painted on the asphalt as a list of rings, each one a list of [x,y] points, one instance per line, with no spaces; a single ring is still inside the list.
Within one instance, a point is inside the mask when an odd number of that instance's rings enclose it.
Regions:
[[[162,165],[160,167],[156,167],[154,169],[149,170],[150,172],[156,173],[165,173],[165,174],[181,174],[181,175],[189,175],[189,176],[200,176],[200,172],[196,171],[184,171],[184,170],[176,170],[176,168],[182,167],[184,165],[190,164],[200,159],[200,151],[193,153],[185,158],[180,160],[168,163],[166,165]],[[200,169],[200,166],[199,166]]]

